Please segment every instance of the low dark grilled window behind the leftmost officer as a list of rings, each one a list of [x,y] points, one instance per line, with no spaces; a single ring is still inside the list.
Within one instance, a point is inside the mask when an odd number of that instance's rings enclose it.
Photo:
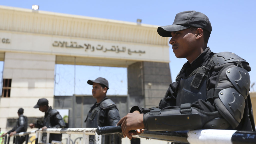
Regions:
[[[44,117],[28,117],[28,126],[30,123],[42,123],[44,120]],[[16,122],[18,121],[17,118],[8,118],[6,123],[6,128],[13,128],[16,126]]]

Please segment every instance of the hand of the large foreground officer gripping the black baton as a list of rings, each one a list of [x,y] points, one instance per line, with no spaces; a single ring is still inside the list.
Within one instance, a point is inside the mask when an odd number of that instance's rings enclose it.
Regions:
[[[119,125],[121,125],[124,137],[132,139],[133,135],[137,135],[138,133],[142,133],[144,131],[141,130],[145,128],[143,123],[143,114],[139,114],[138,112],[129,113],[117,123],[117,126]],[[130,130],[137,131],[129,132]]]

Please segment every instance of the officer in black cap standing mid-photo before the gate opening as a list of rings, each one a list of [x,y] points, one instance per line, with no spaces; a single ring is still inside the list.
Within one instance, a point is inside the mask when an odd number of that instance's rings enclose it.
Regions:
[[[116,104],[106,96],[109,89],[108,80],[99,77],[95,80],[88,80],[87,83],[92,85],[92,96],[97,100],[87,114],[87,128],[97,128],[103,126],[115,126],[120,120]],[[102,143],[121,143],[118,135],[103,135]],[[89,143],[94,143],[94,135],[89,136]]]

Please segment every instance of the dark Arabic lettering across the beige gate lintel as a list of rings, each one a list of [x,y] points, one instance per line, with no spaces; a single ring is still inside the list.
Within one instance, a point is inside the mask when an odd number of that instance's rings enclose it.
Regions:
[[[123,52],[125,53],[126,52],[126,47],[122,47],[122,48],[119,48],[119,46],[112,46],[111,48],[107,48],[107,47],[104,47],[104,45],[97,45],[97,46],[94,46],[94,45],[91,45],[91,44],[88,44],[88,43],[85,43],[83,45],[78,45],[77,42],[65,42],[65,41],[54,41],[54,43],[52,43],[52,46],[54,47],[66,47],[66,48],[83,48],[84,51],[91,51],[91,52],[94,52],[94,50],[102,50],[102,52],[115,52],[115,53],[120,53],[120,52]],[[131,55],[132,53],[137,53],[139,55],[141,54],[145,54],[145,50],[142,51],[142,50],[131,50],[130,48],[127,50],[127,53],[129,55]]]

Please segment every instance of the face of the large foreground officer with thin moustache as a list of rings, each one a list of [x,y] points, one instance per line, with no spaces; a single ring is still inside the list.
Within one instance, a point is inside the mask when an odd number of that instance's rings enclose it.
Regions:
[[[169,42],[172,45],[173,53],[177,58],[195,59],[197,55],[198,43],[196,42],[196,31],[189,28],[172,32]],[[194,58],[195,57],[195,58]],[[192,60],[192,61],[193,61]]]

